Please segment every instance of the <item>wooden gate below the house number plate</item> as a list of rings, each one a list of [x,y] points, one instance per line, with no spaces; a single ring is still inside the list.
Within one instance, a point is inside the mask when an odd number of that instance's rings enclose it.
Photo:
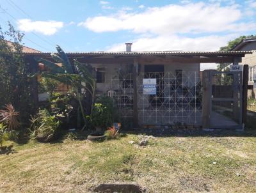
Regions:
[[[242,129],[243,72],[204,72],[204,116],[209,114],[203,127]],[[209,76],[209,79],[207,78]],[[209,80],[209,81],[208,81]]]

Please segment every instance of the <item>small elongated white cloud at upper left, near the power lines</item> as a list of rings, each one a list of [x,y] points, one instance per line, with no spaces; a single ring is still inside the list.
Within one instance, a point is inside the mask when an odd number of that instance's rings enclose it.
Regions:
[[[32,21],[30,19],[18,20],[18,28],[25,32],[38,32],[43,35],[54,35],[61,27],[64,26],[63,22],[54,20],[49,21]]]

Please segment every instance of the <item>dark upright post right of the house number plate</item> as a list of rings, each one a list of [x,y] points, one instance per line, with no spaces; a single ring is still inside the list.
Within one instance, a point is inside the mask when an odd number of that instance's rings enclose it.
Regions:
[[[248,65],[243,66],[243,116],[242,123],[246,124],[247,119],[247,95],[248,95],[248,75],[249,75],[249,67]]]

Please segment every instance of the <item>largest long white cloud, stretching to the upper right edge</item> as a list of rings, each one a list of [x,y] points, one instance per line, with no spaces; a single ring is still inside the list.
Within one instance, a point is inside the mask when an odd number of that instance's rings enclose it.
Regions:
[[[236,5],[190,3],[170,4],[147,8],[144,12],[117,12],[113,15],[89,17],[79,26],[101,33],[131,30],[134,33],[168,35],[175,33],[207,33],[246,31],[255,29],[253,23],[242,23],[241,11]]]

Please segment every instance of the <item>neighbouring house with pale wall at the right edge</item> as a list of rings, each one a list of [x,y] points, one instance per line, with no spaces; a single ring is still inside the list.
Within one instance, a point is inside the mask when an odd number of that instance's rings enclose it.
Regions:
[[[248,85],[253,85],[252,90],[248,90],[248,97],[255,98],[256,84],[256,38],[246,38],[237,43],[232,51],[254,51],[252,54],[245,54],[240,65],[249,65]],[[255,80],[255,81],[254,81]]]

